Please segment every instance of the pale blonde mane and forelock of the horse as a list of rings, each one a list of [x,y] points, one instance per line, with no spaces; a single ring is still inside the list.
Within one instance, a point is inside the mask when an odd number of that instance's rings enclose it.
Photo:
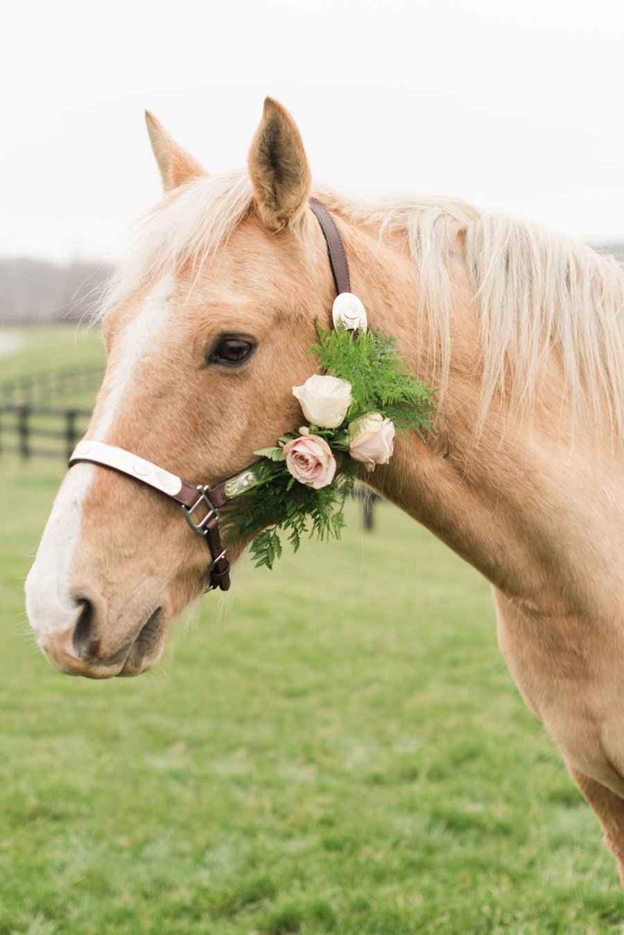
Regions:
[[[418,303],[427,314],[436,379],[451,360],[451,252],[461,237],[480,326],[481,412],[495,395],[512,410],[532,410],[546,358],[558,355],[564,406],[624,438],[624,266],[612,256],[536,224],[491,214],[445,197],[355,199],[317,186],[314,194],[354,223],[401,233],[418,265]],[[191,262],[199,269],[248,215],[248,174],[192,180],[166,195],[138,223],[128,258],[110,282],[97,317],[157,271]]]

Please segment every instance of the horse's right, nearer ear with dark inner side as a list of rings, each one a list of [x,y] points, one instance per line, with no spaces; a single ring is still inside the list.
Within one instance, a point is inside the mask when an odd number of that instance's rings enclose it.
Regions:
[[[274,230],[296,220],[310,194],[304,144],[288,110],[267,97],[253,137],[248,169],[262,221]]]

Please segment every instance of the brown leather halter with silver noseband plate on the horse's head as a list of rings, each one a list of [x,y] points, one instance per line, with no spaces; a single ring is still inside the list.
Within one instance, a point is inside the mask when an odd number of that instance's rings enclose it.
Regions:
[[[332,266],[336,293],[338,295],[350,293],[347,253],[333,217],[316,198],[310,198],[308,204],[319,221],[323,237],[327,242],[327,252]],[[71,468],[79,462],[90,462],[103,468],[119,471],[121,474],[125,474],[126,477],[148,484],[149,487],[179,503],[184,518],[191,526],[191,529],[194,529],[195,532],[206,539],[206,545],[212,558],[208,569],[206,591],[212,591],[215,588],[220,588],[221,591],[229,590],[230,563],[225,554],[226,550],[221,544],[219,531],[220,509],[232,499],[232,496],[228,496],[229,484],[235,484],[238,481],[237,492],[244,489],[245,471],[239,472],[225,481],[220,481],[214,487],[201,483],[194,484],[184,481],[182,478],[177,477],[177,474],[159,468],[158,465],[152,464],[151,461],[146,461],[145,458],[140,458],[123,448],[107,445],[103,441],[92,441],[91,439],[78,442],[68,464]],[[201,519],[195,521],[193,514],[195,514],[195,511],[200,510],[203,515]]]

